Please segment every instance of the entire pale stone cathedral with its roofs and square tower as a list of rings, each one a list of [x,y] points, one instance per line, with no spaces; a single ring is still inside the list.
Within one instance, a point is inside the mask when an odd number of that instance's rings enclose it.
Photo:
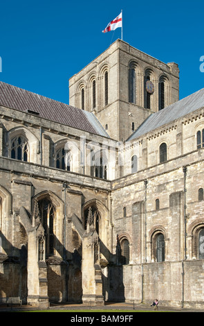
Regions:
[[[0,83],[0,297],[204,307],[204,89],[116,40],[69,105]]]

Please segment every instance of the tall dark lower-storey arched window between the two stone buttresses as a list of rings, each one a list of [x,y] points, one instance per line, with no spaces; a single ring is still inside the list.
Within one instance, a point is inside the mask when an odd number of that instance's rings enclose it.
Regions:
[[[47,198],[39,200],[39,214],[46,237],[46,255],[54,255],[55,207]]]

